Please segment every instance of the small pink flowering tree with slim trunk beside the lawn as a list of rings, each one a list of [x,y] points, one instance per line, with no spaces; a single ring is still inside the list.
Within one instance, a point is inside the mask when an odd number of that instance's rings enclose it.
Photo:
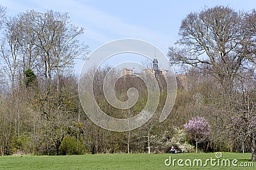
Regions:
[[[195,140],[197,153],[197,144],[205,141],[209,135],[209,123],[205,120],[204,117],[194,117],[183,126],[189,137],[191,137],[192,140]]]

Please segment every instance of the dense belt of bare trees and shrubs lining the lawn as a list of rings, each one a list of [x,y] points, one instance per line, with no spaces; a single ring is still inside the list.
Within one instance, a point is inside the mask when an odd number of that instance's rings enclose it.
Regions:
[[[67,13],[35,12],[6,17],[1,12],[0,153],[66,155],[85,153],[169,152],[172,146],[194,151],[183,125],[195,116],[209,122],[200,151],[256,149],[256,12],[237,13],[216,6],[190,13],[180,26],[179,47],[170,47],[172,63],[191,65],[177,75],[177,98],[167,120],[158,122],[166,99],[166,83],[156,114],[142,127],[111,132],[88,119],[79,102],[79,77],[72,73],[74,59],[85,58],[88,46],[79,42],[84,29],[70,23]],[[136,105],[118,110],[103,93],[110,68],[97,71],[93,93],[102,111],[115,118],[140,112],[149,93],[139,78],[116,82],[116,96],[127,100],[134,87]]]

